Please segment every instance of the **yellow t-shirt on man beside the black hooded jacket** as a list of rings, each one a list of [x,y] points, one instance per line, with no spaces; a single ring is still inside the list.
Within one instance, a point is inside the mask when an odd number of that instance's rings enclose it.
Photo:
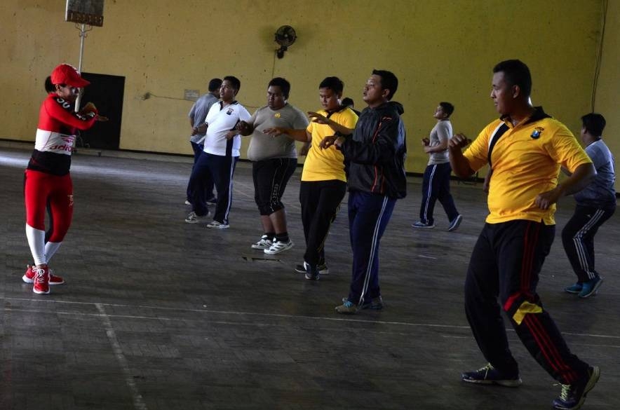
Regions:
[[[327,111],[317,111],[318,114],[328,116]],[[337,111],[330,116],[330,120],[335,121],[346,128],[355,128],[358,122],[358,116],[350,108]],[[325,124],[311,122],[306,131],[312,136],[311,146],[308,156],[304,161],[304,170],[302,171],[302,181],[330,181],[331,179],[339,179],[346,182],[344,175],[344,156],[335,146],[328,149],[321,149],[318,144],[328,135],[334,135],[335,131]]]

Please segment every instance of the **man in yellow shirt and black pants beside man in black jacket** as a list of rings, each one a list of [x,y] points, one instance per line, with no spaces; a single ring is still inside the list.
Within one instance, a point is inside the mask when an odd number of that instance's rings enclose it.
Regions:
[[[325,263],[325,240],[346,193],[344,156],[335,146],[321,149],[319,144],[328,135],[349,135],[358,116],[340,104],[344,83],[338,77],[327,77],[318,86],[322,109],[311,111],[311,123],[299,130],[274,127],[264,130],[272,135],[287,135],[297,141],[310,143],[304,162],[299,202],[306,238],[304,264],[296,271],[305,273],[308,280],[318,280],[329,272]]]

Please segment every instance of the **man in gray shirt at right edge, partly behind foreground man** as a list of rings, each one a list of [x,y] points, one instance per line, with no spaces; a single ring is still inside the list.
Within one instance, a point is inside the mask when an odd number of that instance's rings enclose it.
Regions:
[[[562,229],[562,245],[577,275],[577,283],[564,290],[587,298],[595,295],[602,283],[594,268],[594,235],[616,210],[616,173],[614,156],[602,141],[605,118],[600,114],[586,114],[581,117],[581,124],[581,141],[594,163],[596,177],[586,188],[575,193],[577,206]]]

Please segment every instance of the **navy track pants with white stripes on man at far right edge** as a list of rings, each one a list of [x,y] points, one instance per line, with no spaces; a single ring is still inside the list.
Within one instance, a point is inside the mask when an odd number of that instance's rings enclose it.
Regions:
[[[562,229],[562,245],[577,275],[577,282],[587,282],[598,277],[594,269],[594,235],[615,210],[615,206],[577,205],[573,216]]]

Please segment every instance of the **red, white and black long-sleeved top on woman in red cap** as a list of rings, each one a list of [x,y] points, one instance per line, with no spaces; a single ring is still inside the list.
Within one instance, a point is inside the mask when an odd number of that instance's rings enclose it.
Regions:
[[[41,104],[34,151],[29,170],[67,175],[71,168],[76,130],[88,130],[95,124],[97,112],[76,113],[72,102],[50,94]]]

